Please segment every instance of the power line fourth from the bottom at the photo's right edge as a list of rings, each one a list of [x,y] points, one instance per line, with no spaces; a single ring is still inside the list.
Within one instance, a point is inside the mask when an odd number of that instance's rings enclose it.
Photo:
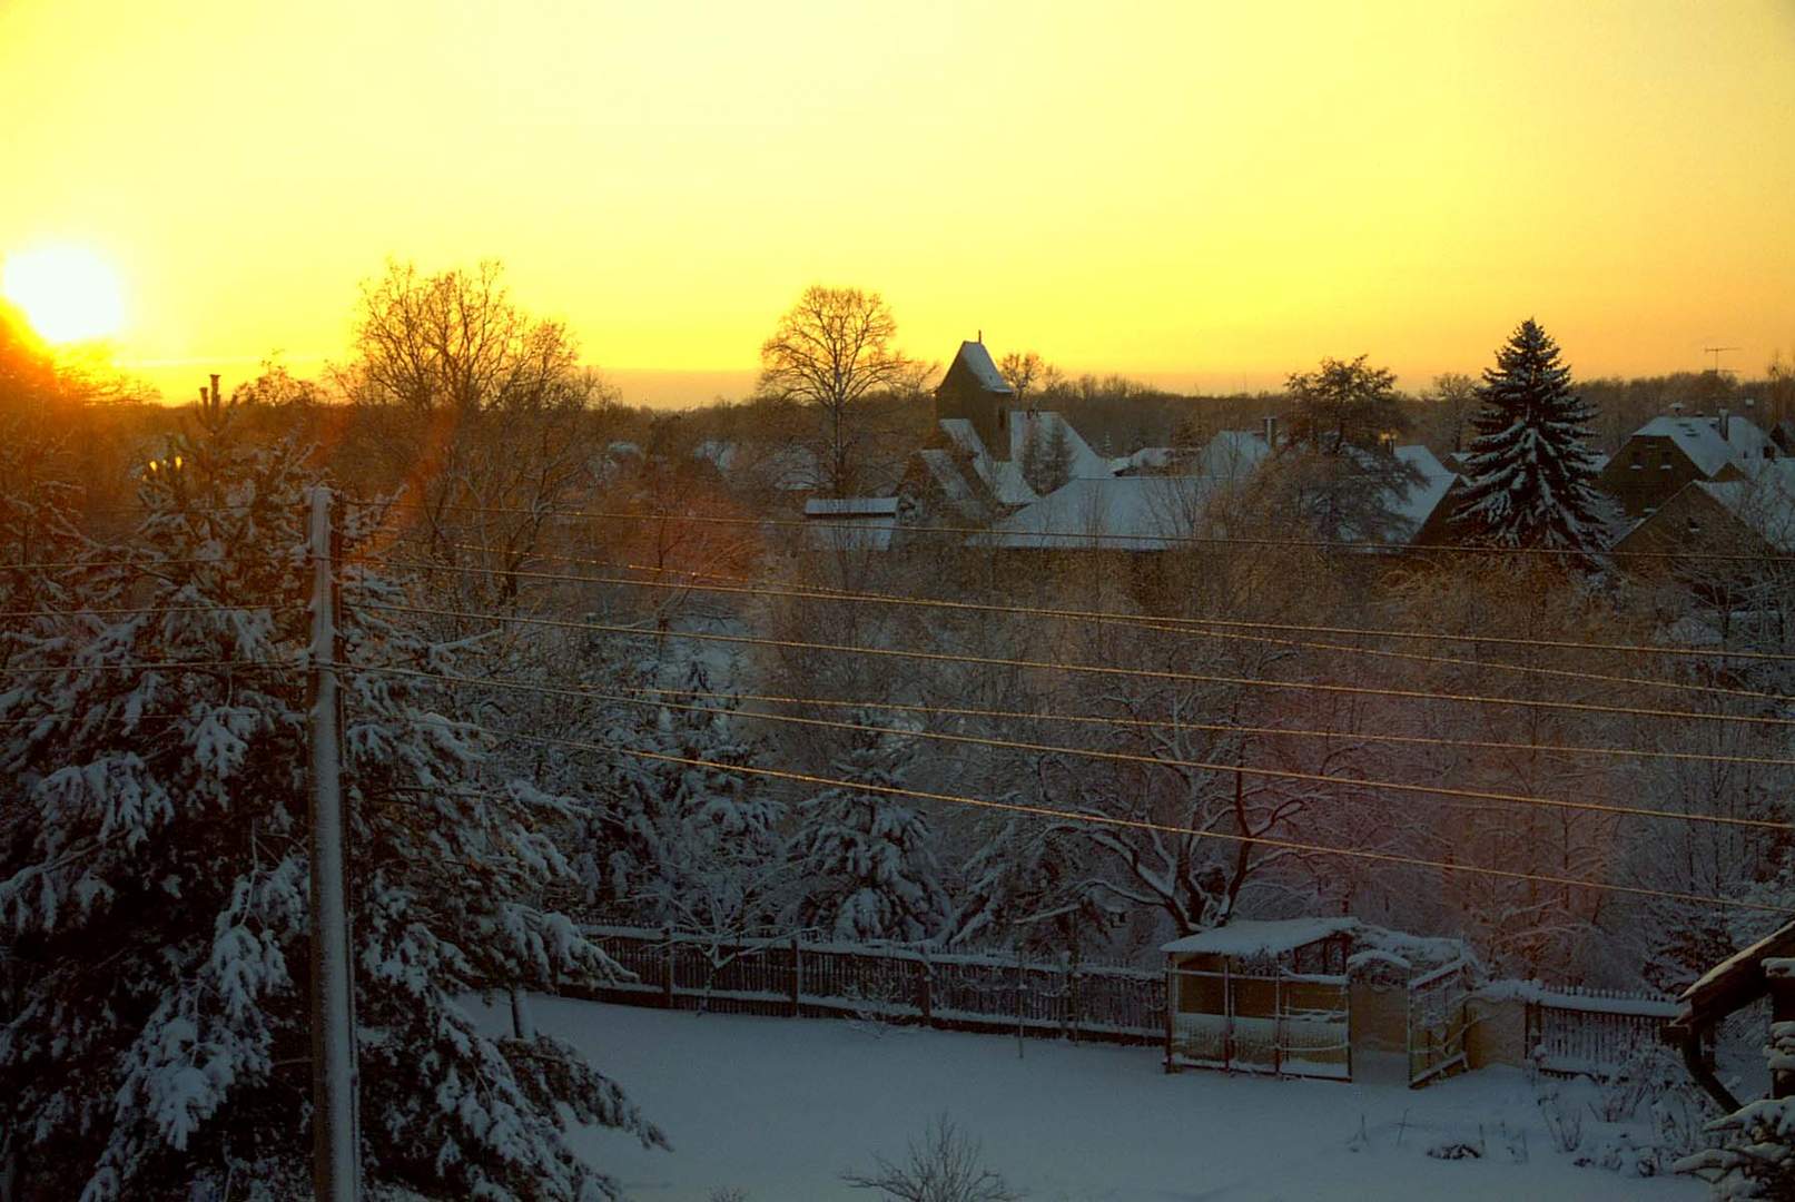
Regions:
[[[1596,701],[1544,701],[1535,698],[1502,698],[1470,692],[1425,692],[1420,689],[1373,689],[1368,685],[1321,684],[1310,680],[1262,680],[1258,676],[1215,676],[1204,673],[1179,673],[1154,667],[1118,667],[1113,664],[1061,664],[1055,660],[1023,660],[993,655],[951,655],[946,651],[915,651],[908,648],[862,648],[840,642],[804,642],[799,639],[765,639],[757,635],[722,635],[696,630],[643,630],[639,626],[617,626],[609,623],[576,623],[555,617],[535,617],[528,614],[477,614],[468,610],[442,610],[416,605],[384,605],[366,601],[363,608],[386,610],[393,614],[422,614],[434,617],[452,617],[458,621],[515,623],[528,626],[547,626],[555,630],[580,630],[591,633],[634,635],[648,639],[691,639],[698,642],[729,642],[736,646],[786,648],[793,651],[827,651],[831,655],[867,655],[876,658],[906,658],[948,664],[978,664],[987,667],[1021,667],[1038,671],[1088,673],[1099,676],[1125,676],[1136,680],[1172,680],[1181,684],[1213,684],[1244,689],[1287,689],[1296,692],[1332,692],[1344,696],[1380,696],[1413,701],[1454,701],[1463,705],[1511,705],[1517,709],[1569,710],[1581,714],[1623,714],[1633,718],[1675,718],[1686,721],[1739,721],[1763,727],[1795,727],[1791,718],[1768,718],[1761,714],[1703,714],[1700,710],[1666,710],[1630,705],[1601,705]]]

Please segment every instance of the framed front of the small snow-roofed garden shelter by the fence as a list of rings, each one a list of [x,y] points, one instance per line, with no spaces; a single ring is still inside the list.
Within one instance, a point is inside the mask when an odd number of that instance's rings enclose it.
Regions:
[[[1352,1080],[1344,976],[1172,969],[1169,987],[1167,1069]]]

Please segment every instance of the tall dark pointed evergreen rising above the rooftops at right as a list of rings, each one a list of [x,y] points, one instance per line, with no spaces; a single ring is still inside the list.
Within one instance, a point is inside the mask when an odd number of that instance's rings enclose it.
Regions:
[[[1594,551],[1601,501],[1589,450],[1596,413],[1571,393],[1558,344],[1528,318],[1483,373],[1465,459],[1463,536],[1501,547]]]

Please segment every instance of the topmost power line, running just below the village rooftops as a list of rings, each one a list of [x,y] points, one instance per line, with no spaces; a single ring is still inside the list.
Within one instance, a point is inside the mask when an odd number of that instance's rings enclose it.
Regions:
[[[1176,477],[1169,477],[1176,479]],[[372,506],[375,502],[368,501],[350,501],[350,504]],[[424,501],[418,499],[400,499],[391,502],[388,508],[422,508]],[[752,526],[752,527],[790,527],[790,529],[845,529],[865,533],[865,526],[856,526],[853,522],[820,522],[813,518],[775,518],[775,517],[725,517],[713,513],[630,513],[626,510],[526,510],[522,506],[474,506],[474,504],[442,504],[434,506],[451,513],[495,513],[512,517],[530,517],[537,520],[544,518],[574,518],[574,520],[592,520],[592,522],[696,522],[709,526]],[[1161,549],[1163,544],[1188,544],[1188,545],[1222,545],[1222,547],[1285,547],[1296,551],[1380,551],[1380,553],[1409,553],[1409,554],[1431,554],[1431,553],[1459,553],[1459,554],[1497,554],[1497,556],[1545,556],[1545,558],[1571,558],[1571,560],[1590,560],[1590,558],[1628,558],[1628,560],[1693,560],[1693,562],[1748,562],[1748,563],[1795,563],[1795,554],[1739,554],[1739,553],[1714,553],[1714,551],[1572,551],[1563,547],[1493,547],[1477,544],[1440,544],[1427,547],[1409,547],[1402,544],[1380,544],[1380,542],[1346,542],[1346,540],[1321,540],[1321,538],[1240,538],[1240,536],[1222,536],[1222,535],[1122,535],[1122,533],[1097,533],[1097,531],[1002,531],[984,526],[901,526],[898,527],[906,535],[962,535],[968,538],[1048,538],[1064,540],[1068,549],[1081,549],[1081,544],[1104,544],[1104,542],[1134,542],[1149,544],[1149,549]],[[976,544],[975,544],[976,545]],[[1005,549],[1000,544],[985,544],[991,549]]]

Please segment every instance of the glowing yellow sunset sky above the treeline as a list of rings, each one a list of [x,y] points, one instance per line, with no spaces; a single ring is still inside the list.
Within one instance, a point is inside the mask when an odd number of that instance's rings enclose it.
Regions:
[[[341,359],[388,257],[503,260],[630,400],[740,393],[813,282],[1181,388],[1795,348],[1791,0],[0,0],[0,258],[109,262],[183,398]]]

